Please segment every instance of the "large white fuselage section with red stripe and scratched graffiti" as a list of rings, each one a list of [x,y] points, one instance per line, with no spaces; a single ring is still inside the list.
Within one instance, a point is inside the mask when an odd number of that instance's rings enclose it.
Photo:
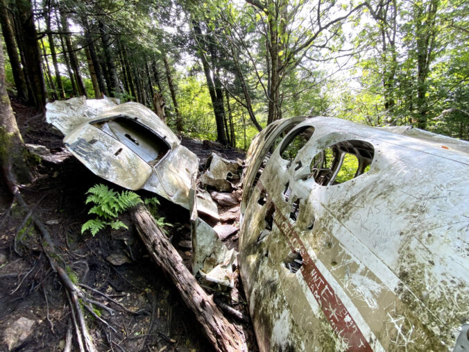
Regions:
[[[239,265],[261,351],[454,348],[469,153],[441,145],[330,117],[259,133]]]

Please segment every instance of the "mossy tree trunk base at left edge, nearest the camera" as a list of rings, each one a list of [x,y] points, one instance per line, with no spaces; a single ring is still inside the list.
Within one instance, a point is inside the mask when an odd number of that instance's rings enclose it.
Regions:
[[[26,149],[10,106],[5,87],[5,60],[0,40],[0,166],[8,188],[9,183],[28,183],[31,174],[26,164]]]

